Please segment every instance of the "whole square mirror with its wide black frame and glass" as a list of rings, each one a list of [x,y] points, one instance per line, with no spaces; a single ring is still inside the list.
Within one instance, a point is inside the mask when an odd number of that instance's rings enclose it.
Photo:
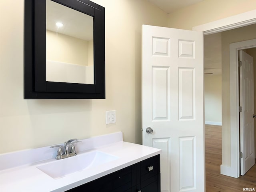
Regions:
[[[104,7],[24,3],[24,99],[105,98]]]

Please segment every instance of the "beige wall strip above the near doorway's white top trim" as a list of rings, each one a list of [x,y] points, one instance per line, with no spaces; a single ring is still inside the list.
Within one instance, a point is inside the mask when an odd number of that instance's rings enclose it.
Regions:
[[[168,27],[192,27],[256,9],[256,0],[204,0],[168,14]]]

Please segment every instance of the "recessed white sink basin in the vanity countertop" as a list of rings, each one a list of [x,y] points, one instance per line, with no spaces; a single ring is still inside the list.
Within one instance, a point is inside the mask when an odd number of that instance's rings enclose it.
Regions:
[[[92,168],[116,159],[118,159],[116,156],[99,151],[93,151],[78,154],[66,159],[56,160],[48,164],[37,166],[36,168],[48,174],[52,178],[58,179],[68,174]]]

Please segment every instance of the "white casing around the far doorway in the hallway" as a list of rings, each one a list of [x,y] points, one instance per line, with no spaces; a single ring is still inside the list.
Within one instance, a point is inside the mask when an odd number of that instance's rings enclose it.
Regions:
[[[230,67],[230,143],[231,143],[231,168],[237,167],[240,176],[240,134],[239,134],[239,73],[238,73],[238,50],[256,47],[256,39],[231,43],[229,45]],[[220,169],[221,170],[221,169]],[[222,173],[222,171],[220,171]],[[231,175],[229,175],[231,176]]]

